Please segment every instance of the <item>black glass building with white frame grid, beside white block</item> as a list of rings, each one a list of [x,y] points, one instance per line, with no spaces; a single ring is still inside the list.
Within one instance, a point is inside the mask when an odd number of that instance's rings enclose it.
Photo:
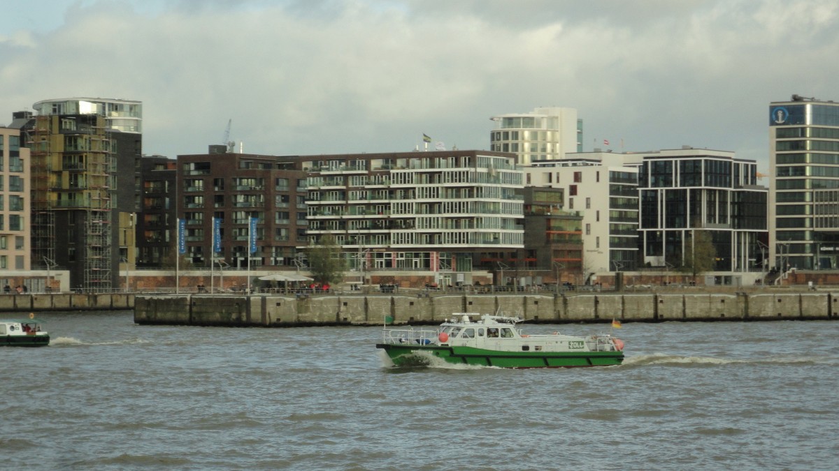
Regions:
[[[702,230],[716,249],[712,271],[718,277],[705,284],[751,284],[743,273],[762,272],[768,190],[758,186],[756,162],[686,146],[646,153],[638,188],[645,266],[683,266]]]

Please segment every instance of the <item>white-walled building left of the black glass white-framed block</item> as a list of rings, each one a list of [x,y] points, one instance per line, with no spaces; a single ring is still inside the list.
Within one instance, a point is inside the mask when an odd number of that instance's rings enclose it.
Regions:
[[[575,153],[524,168],[525,186],[565,190],[565,210],[582,215],[578,283],[638,267],[638,155]]]

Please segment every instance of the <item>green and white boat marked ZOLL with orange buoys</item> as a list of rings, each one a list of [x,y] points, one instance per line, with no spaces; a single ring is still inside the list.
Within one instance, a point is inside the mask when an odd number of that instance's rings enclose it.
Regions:
[[[431,365],[436,359],[500,368],[573,368],[623,362],[623,341],[612,334],[528,335],[516,329],[520,318],[477,313],[454,316],[436,330],[385,325],[382,343],[376,348],[383,349],[395,366]]]

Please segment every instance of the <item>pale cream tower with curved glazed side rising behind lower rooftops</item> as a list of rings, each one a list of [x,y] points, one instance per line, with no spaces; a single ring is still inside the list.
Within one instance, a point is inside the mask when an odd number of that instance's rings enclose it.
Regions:
[[[564,158],[582,152],[582,120],[573,108],[541,107],[529,113],[492,116],[490,149],[516,154],[516,163]]]

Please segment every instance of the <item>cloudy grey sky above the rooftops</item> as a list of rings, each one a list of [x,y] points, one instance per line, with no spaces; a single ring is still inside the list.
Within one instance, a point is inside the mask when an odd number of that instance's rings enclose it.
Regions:
[[[0,18],[0,123],[143,101],[144,153],[487,149],[576,108],[584,150],[712,148],[768,169],[770,101],[839,100],[836,0],[50,0]],[[3,117],[5,116],[5,117]],[[621,148],[623,142],[623,148]]]

